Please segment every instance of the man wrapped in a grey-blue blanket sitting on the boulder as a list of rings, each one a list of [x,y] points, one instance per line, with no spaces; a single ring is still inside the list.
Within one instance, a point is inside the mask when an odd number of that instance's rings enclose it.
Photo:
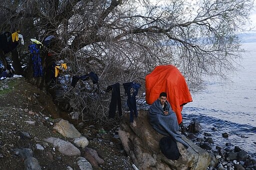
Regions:
[[[161,92],[159,98],[153,102],[149,108],[149,121],[153,129],[158,133],[172,137],[176,142],[179,142],[188,148],[188,144],[181,139],[181,134],[178,131],[178,122],[176,114],[172,111],[169,102],[166,100],[167,94]]]

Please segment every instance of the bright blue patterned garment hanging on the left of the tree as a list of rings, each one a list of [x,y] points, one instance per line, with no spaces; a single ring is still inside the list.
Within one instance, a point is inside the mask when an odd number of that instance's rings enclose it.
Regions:
[[[40,50],[37,48],[36,44],[30,44],[28,46],[28,49],[29,49],[29,52],[32,54],[33,77],[43,76]]]

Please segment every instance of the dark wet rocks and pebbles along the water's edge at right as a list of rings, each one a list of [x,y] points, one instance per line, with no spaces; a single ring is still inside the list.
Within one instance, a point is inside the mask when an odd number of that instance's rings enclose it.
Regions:
[[[215,127],[212,131],[217,131]],[[211,133],[204,132],[200,123],[191,122],[187,127],[180,126],[181,133],[194,144],[206,150],[212,157],[208,170],[256,170],[256,154],[251,154],[233,143],[215,143]],[[220,134],[227,139],[230,134]],[[256,144],[255,144],[256,145]]]

